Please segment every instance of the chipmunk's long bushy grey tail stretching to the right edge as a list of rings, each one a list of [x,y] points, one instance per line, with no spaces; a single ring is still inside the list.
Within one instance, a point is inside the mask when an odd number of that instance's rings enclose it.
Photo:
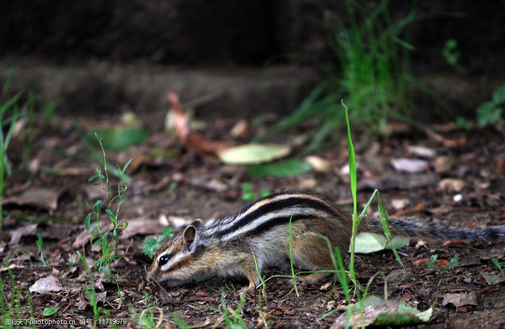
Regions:
[[[469,229],[448,226],[439,222],[421,223],[411,217],[388,218],[388,224],[393,237],[418,237],[428,240],[505,241],[505,225],[485,229]],[[380,218],[373,217],[364,217],[358,227],[358,232],[384,234]]]

